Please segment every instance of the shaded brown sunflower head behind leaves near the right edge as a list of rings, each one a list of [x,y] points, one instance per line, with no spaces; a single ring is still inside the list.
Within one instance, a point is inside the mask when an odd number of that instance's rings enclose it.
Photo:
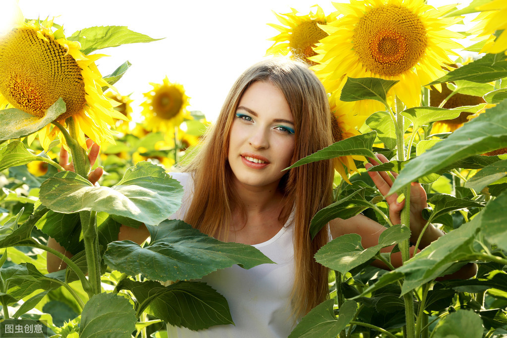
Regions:
[[[429,105],[432,107],[438,107],[442,101],[451,94],[451,90],[447,86],[442,87],[442,92],[432,88],[429,92]],[[480,96],[465,95],[456,93],[444,104],[443,108],[452,109],[456,107],[462,107],[467,105],[478,105],[484,103],[484,99]],[[431,127],[432,134],[453,132],[459,127],[463,126],[463,123],[468,121],[468,117],[473,115],[472,112],[461,111],[460,115],[452,120],[443,120],[433,123]]]

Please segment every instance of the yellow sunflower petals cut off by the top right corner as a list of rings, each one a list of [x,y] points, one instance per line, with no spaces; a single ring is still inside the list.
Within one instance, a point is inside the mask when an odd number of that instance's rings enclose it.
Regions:
[[[478,37],[487,35],[487,41],[481,50],[482,53],[500,53],[507,49],[507,2],[505,0],[493,0],[490,3],[477,7],[481,11],[477,18],[472,21],[479,21],[469,33],[478,34]],[[503,30],[496,37],[493,35],[495,31]]]

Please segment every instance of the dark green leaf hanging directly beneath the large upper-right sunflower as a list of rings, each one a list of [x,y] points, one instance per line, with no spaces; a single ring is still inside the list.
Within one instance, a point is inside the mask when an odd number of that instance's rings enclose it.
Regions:
[[[347,78],[342,89],[340,100],[377,100],[387,105],[387,92],[394,86],[397,80],[384,80],[378,78]]]

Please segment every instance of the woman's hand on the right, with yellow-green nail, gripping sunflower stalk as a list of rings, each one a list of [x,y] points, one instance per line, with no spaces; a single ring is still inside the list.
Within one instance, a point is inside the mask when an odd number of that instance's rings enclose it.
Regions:
[[[376,155],[376,159],[370,159],[370,163],[365,164],[365,168],[369,169],[374,165],[389,162],[387,158],[382,155]],[[401,223],[401,211],[405,207],[405,199],[399,201],[398,194],[391,194],[386,196],[391,189],[393,179],[398,176],[395,172],[390,172],[392,176],[385,171],[368,171],[368,174],[372,178],[373,182],[377,186],[379,192],[385,197],[387,204],[389,205],[389,218],[393,224]],[[410,230],[412,232],[411,240],[415,243],[419,237],[423,227],[426,224],[426,220],[422,217],[422,210],[427,208],[426,203],[427,197],[424,188],[420,183],[412,182],[410,187]],[[421,247],[427,246],[430,242],[436,240],[442,236],[443,233],[434,227],[428,227],[422,240]]]

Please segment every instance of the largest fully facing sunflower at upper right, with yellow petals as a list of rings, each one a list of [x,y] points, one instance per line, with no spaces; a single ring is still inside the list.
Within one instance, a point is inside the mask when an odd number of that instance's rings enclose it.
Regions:
[[[454,5],[435,9],[423,0],[350,0],[334,6],[343,16],[321,26],[329,36],[310,59],[320,63],[312,69],[336,95],[347,77],[397,80],[389,94],[408,107],[419,106],[421,86],[444,76],[441,65],[452,63],[448,54],[461,47],[451,38],[462,35],[447,29],[461,18],[442,18]],[[359,111],[369,115],[372,107]]]

